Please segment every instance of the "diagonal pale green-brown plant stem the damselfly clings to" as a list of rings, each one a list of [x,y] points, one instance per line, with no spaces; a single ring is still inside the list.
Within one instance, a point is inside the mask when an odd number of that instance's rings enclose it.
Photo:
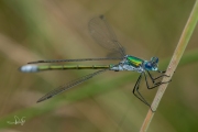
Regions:
[[[177,65],[178,65],[178,63],[179,63],[179,61],[180,61],[180,58],[183,56],[183,53],[184,53],[184,51],[185,51],[185,48],[186,48],[186,46],[187,46],[187,44],[188,44],[188,42],[190,40],[190,36],[191,36],[191,34],[194,32],[194,29],[195,29],[195,26],[197,24],[197,20],[198,20],[198,0],[195,2],[194,9],[193,9],[193,11],[190,13],[190,16],[189,16],[189,19],[188,19],[188,21],[186,23],[186,26],[185,26],[185,29],[183,31],[180,40],[179,40],[179,42],[177,44],[177,47],[176,47],[176,50],[174,52],[172,61],[170,61],[170,63],[168,65],[168,68],[166,70],[166,75],[168,75],[170,77],[164,77],[162,79],[162,81],[165,82],[165,81],[168,81],[172,78],[172,76],[173,76],[173,74],[174,74],[174,72],[175,72],[175,69],[176,69],[176,67],[177,67]],[[161,101],[167,86],[168,86],[168,84],[163,84],[163,85],[160,86],[160,88],[158,88],[158,90],[156,92],[156,96],[155,96],[155,98],[154,98],[154,100],[152,102],[152,106],[151,106],[152,110],[156,111],[156,109],[158,107],[158,103],[160,103],[160,101]],[[147,131],[147,129],[150,127],[150,123],[152,121],[152,118],[154,116],[154,112],[151,109],[148,110],[140,132],[146,132]]]

